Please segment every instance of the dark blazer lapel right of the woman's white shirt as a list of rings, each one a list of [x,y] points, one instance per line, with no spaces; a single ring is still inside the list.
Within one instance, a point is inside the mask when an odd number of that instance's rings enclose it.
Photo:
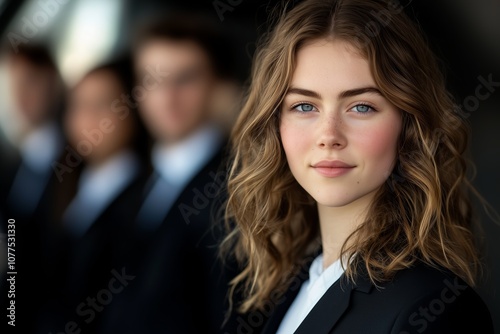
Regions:
[[[372,283],[364,274],[361,265],[360,267],[358,267],[359,276],[355,283],[352,283],[345,275],[342,275],[340,279],[326,291],[323,297],[300,324],[299,328],[297,328],[295,334],[330,333],[349,307],[353,290],[364,293],[370,292]]]

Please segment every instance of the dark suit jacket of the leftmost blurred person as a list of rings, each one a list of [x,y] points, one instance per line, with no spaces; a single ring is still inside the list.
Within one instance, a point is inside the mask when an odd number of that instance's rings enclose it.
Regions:
[[[64,145],[63,145],[64,146]],[[7,153],[6,153],[7,155]],[[0,162],[0,231],[6,233],[7,219],[15,219],[16,223],[16,266],[18,272],[16,276],[16,329],[29,333],[34,330],[35,319],[41,308],[39,302],[33,300],[45,300],[50,295],[49,289],[45,286],[46,263],[42,251],[45,249],[44,240],[47,237],[47,227],[50,225],[49,209],[51,200],[54,197],[54,186],[59,183],[53,169],[49,168],[45,173],[38,173],[29,168],[21,159],[21,156],[14,152],[11,159],[6,156]],[[40,195],[36,198],[34,205],[26,209],[24,196],[9,199],[14,180],[20,169],[23,169],[24,180],[29,180],[30,184],[36,184]],[[21,193],[29,195],[32,188],[26,187]],[[26,196],[29,197],[29,196]],[[7,240],[5,240],[7,241]],[[7,250],[5,248],[5,250]],[[6,254],[6,253],[5,253]],[[2,307],[7,307],[7,290],[4,283],[5,276],[0,274],[0,301]]]

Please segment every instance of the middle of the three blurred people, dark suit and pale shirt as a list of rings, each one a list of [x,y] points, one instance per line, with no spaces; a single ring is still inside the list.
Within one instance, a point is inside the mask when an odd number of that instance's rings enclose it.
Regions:
[[[71,148],[57,163],[59,186],[52,212],[53,298],[40,327],[64,330],[78,306],[107,286],[116,240],[124,230],[127,189],[144,173],[146,133],[137,111],[120,102],[133,90],[128,57],[88,72],[70,91],[63,117]],[[68,157],[72,156],[70,164]],[[58,261],[55,261],[58,259]],[[78,324],[95,331],[99,319]],[[39,328],[41,330],[41,328]]]

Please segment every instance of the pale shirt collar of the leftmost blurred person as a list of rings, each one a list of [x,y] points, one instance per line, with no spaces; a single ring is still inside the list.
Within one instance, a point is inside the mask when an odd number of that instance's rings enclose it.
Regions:
[[[23,161],[38,172],[45,172],[61,151],[61,135],[54,122],[48,122],[26,137],[21,146]]]

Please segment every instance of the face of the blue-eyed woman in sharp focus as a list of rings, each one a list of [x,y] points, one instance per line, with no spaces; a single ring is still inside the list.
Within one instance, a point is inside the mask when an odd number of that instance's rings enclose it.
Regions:
[[[298,51],[280,133],[292,174],[318,205],[371,200],[394,167],[401,128],[350,44],[318,40]]]

